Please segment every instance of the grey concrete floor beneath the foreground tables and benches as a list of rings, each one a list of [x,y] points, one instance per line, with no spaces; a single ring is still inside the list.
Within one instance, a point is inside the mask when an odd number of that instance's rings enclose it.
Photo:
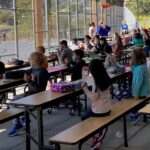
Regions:
[[[47,114],[47,110],[43,111],[44,115],[44,141],[48,144],[49,137],[71,127],[80,122],[77,115],[70,116],[68,110],[53,110],[52,114]],[[31,119],[32,135],[36,137],[36,123]],[[124,148],[123,138],[117,138],[116,132],[122,131],[122,120],[109,127],[109,131],[102,145],[102,150],[150,150],[150,122],[143,123],[142,120],[133,126],[128,119],[128,139],[129,148]],[[16,137],[8,137],[7,133],[12,125],[12,121],[0,125],[0,150],[25,150],[24,134]],[[4,130],[4,131],[3,131]],[[37,147],[32,143],[32,150]],[[90,141],[83,145],[83,150],[90,149]],[[77,150],[77,146],[62,145],[62,150]]]

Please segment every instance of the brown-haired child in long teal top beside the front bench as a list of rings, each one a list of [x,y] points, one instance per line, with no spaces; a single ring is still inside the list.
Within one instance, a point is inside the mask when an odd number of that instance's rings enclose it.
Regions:
[[[132,71],[132,96],[135,99],[145,99],[150,94],[149,72],[147,68],[146,56],[143,48],[136,48],[131,53],[131,71]],[[144,107],[144,105],[143,105]],[[133,110],[130,113],[130,118],[133,121],[139,119],[138,110]]]

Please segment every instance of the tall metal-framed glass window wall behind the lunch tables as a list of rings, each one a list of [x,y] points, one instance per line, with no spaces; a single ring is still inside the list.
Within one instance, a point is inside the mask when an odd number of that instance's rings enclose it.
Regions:
[[[101,9],[106,0],[97,0],[96,13],[92,10],[92,0],[42,0],[41,18],[43,45],[55,48],[62,39],[71,40],[88,34],[89,23],[102,20],[119,31],[123,15],[123,2],[113,1],[109,9]],[[111,0],[109,0],[112,3]],[[103,14],[102,14],[103,12]],[[118,15],[119,14],[119,15]],[[103,16],[103,19],[102,19]],[[0,0],[0,54],[7,62],[10,58],[27,60],[35,51],[34,0]],[[93,19],[94,18],[94,19]]]

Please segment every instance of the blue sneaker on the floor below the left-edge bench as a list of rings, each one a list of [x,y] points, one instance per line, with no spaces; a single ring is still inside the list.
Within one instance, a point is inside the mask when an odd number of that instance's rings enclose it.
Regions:
[[[9,131],[8,136],[13,137],[18,134],[19,131],[23,129],[22,124],[15,124],[13,125],[12,129]]]

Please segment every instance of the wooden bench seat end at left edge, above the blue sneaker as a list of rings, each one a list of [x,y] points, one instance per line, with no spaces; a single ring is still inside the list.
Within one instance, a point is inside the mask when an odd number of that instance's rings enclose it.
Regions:
[[[18,108],[11,108],[8,110],[4,110],[0,112],[0,124],[9,121],[11,119],[14,119],[18,116],[23,115],[24,110],[23,109],[18,109]]]

